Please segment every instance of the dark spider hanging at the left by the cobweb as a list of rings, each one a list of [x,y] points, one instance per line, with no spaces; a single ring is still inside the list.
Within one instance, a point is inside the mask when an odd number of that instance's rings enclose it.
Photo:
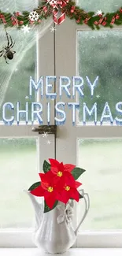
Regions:
[[[13,55],[16,53],[16,51],[13,51],[12,48],[15,45],[15,42],[13,42],[13,39],[11,37],[11,35],[8,34],[8,32],[6,32],[6,37],[7,37],[7,46],[3,46],[3,50],[0,50],[0,57],[4,57],[6,60],[6,63],[9,64],[7,62],[7,58],[9,60],[13,59]]]

